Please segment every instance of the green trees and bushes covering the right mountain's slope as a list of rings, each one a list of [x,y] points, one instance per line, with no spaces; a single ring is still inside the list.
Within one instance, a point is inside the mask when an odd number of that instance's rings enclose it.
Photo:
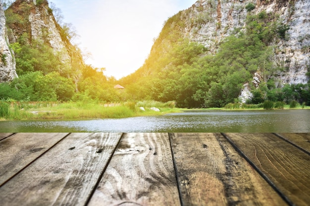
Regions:
[[[238,101],[244,83],[252,82],[259,72],[265,81],[252,87],[254,97],[248,103],[295,99],[310,105],[309,84],[276,87],[274,78],[267,80],[281,69],[271,61],[269,43],[285,36],[283,25],[274,19],[265,11],[248,14],[245,30],[235,31],[210,54],[202,44],[182,38],[184,22],[178,13],[166,22],[145,64],[120,82],[134,87],[137,98],[174,100],[178,107],[223,107]]]

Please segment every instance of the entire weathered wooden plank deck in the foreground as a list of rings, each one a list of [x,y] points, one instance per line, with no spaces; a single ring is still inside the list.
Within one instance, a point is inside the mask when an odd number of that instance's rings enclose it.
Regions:
[[[310,133],[0,133],[0,206],[309,206]]]

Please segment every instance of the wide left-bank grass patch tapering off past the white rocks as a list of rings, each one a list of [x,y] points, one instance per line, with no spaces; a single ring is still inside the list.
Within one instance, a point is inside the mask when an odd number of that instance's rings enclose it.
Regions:
[[[4,104],[3,105],[7,105]],[[38,106],[41,105],[41,106]],[[155,116],[180,111],[172,107],[170,103],[156,101],[144,102],[124,102],[111,104],[67,102],[59,104],[33,104],[23,102],[11,103],[10,107],[5,107],[5,115],[0,117],[3,120],[55,120],[55,119],[98,119],[98,118],[127,118],[137,116]],[[170,106],[169,106],[170,105]],[[175,104],[174,104],[175,105]],[[144,107],[145,111],[140,107]],[[159,108],[160,112],[155,112],[150,108]],[[172,107],[172,108],[171,108]]]

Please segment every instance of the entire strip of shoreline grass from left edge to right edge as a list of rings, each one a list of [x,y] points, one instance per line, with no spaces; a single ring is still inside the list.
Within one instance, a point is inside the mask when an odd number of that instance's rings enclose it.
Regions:
[[[145,111],[140,108],[143,107]],[[153,111],[155,107],[160,112]],[[277,107],[273,107],[277,109]],[[224,108],[184,109],[175,108],[174,102],[161,103],[157,101],[124,102],[102,104],[96,102],[65,102],[48,103],[6,103],[0,101],[0,121],[5,120],[57,120],[57,119],[105,119],[128,118],[138,116],[156,116],[186,110],[262,110],[263,104],[250,105],[231,103]],[[280,109],[310,109],[310,106],[297,104],[281,105]]]

